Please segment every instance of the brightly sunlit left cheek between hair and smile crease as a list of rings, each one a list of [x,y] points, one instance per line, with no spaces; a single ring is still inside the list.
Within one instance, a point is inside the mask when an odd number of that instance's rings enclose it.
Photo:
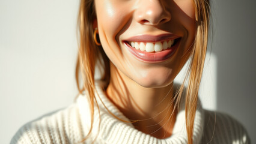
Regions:
[[[126,5],[118,1],[95,1],[100,43],[111,60],[115,57],[121,59],[121,49],[116,37],[126,23],[128,13]]]

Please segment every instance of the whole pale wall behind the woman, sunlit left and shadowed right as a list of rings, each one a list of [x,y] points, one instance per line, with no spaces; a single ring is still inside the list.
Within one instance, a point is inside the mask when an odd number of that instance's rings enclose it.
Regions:
[[[9,143],[26,122],[73,102],[78,3],[0,0],[0,143]],[[213,46],[200,89],[203,106],[242,122],[252,143],[256,143],[254,6],[252,0],[213,3]]]

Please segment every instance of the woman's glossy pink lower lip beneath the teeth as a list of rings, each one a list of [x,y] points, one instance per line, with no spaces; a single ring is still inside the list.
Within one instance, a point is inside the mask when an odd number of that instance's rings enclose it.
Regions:
[[[144,62],[165,61],[166,59],[170,58],[175,53],[179,43],[180,43],[180,39],[177,39],[175,45],[172,46],[171,48],[168,48],[161,52],[145,52],[145,51],[141,51],[141,50],[136,50],[134,47],[130,46],[128,43],[125,42],[130,53],[132,53],[133,56],[135,56],[136,58],[138,58],[139,60],[144,61]]]

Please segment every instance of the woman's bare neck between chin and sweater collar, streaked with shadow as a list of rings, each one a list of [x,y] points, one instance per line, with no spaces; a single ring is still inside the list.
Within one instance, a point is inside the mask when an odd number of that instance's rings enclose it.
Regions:
[[[106,95],[132,120],[136,129],[159,139],[171,136],[176,118],[173,83],[164,88],[145,88],[126,77],[111,63]]]

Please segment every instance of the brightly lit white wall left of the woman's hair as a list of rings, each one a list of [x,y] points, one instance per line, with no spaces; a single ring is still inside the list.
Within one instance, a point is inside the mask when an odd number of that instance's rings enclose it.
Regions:
[[[78,1],[0,0],[0,143],[77,94]]]

